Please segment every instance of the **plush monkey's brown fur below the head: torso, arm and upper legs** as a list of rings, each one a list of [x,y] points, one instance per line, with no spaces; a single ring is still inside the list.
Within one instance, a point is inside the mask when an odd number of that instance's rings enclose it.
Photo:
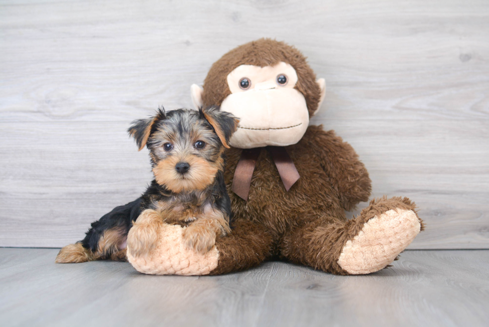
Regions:
[[[229,236],[217,242],[221,257],[217,271],[213,274],[245,269],[257,263],[256,260],[249,260],[247,265],[245,260],[233,261],[227,259],[227,253],[235,256],[239,253],[240,257],[248,259],[256,258],[257,254],[260,254],[260,258],[266,257],[266,254],[280,255],[293,262],[342,273],[342,270],[334,269],[332,258],[337,259],[340,253],[336,254],[334,248],[341,249],[346,239],[344,242],[335,242],[334,235],[331,238],[328,236],[330,232],[324,231],[319,236],[318,233],[323,230],[316,228],[348,230],[351,223],[344,227],[347,221],[345,209],[368,200],[368,173],[351,146],[335,136],[334,132],[323,131],[321,126],[310,126],[302,139],[297,144],[287,146],[286,150],[300,174],[299,180],[288,192],[280,183],[278,171],[266,150],[262,150],[258,157],[248,200],[244,201],[230,192],[237,222],[248,223],[245,226],[250,228],[249,232],[252,230],[256,233],[260,241],[250,245],[240,240],[243,237],[256,241],[248,231],[240,230],[239,225]],[[241,152],[241,149],[232,148],[227,153],[225,179],[228,190],[231,190]],[[331,162],[327,158],[334,158],[335,161]],[[346,173],[340,173],[342,170],[348,172],[348,178],[345,178]],[[363,226],[363,222],[358,224]],[[269,237],[262,237],[264,233]],[[327,246],[321,249],[331,249],[334,253],[331,258],[320,257],[323,260],[321,263],[310,261],[310,257],[321,252],[318,246],[313,246],[314,242],[319,241],[317,238],[324,241],[323,246]],[[230,249],[232,244],[239,244],[239,248]],[[223,246],[226,246],[226,251]],[[227,265],[231,266],[225,267]]]

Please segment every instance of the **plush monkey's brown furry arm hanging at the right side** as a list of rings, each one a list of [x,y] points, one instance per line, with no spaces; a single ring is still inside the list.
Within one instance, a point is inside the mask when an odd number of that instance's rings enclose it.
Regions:
[[[343,142],[334,131],[322,126],[309,126],[309,146],[315,149],[326,174],[345,210],[350,211],[359,202],[367,201],[372,190],[367,169],[358,159],[350,144]]]

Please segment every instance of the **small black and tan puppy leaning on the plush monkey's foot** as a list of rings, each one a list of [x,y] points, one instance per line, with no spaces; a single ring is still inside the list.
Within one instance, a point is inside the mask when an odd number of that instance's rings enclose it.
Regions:
[[[224,150],[238,122],[215,106],[199,111],[158,109],[154,117],[134,121],[128,132],[140,150],[148,147],[155,179],[139,199],[115,208],[92,223],[82,241],[62,248],[56,262],[126,261],[129,230],[138,221],[155,217],[187,226],[183,235],[187,246],[200,253],[209,251],[217,236],[230,232]],[[150,251],[153,237],[131,244],[134,255]]]

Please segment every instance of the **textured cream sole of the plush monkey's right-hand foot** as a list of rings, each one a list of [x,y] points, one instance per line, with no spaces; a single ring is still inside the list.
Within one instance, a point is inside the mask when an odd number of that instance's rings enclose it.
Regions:
[[[377,214],[346,242],[338,264],[351,275],[379,271],[392,263],[421,230],[414,205],[413,210],[395,208]]]

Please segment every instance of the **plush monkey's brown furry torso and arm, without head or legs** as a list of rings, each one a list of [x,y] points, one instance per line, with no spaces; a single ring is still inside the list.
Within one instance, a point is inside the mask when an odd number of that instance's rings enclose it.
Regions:
[[[236,217],[243,216],[264,224],[268,232],[278,239],[303,220],[329,216],[335,217],[328,219],[330,222],[345,221],[346,208],[339,200],[339,194],[343,190],[351,192],[349,196],[343,195],[350,201],[349,208],[360,201],[368,200],[368,173],[353,149],[335,136],[334,132],[324,132],[320,126],[310,126],[297,144],[285,149],[299,172],[299,180],[288,192],[285,191],[270,154],[266,150],[261,151],[251,178],[248,200],[245,202],[236,194],[230,194]],[[225,179],[229,188],[241,152],[241,149],[232,148],[227,153],[228,169],[225,171]],[[341,161],[342,166],[335,167],[325,162],[325,157],[336,158]],[[324,168],[328,165],[330,171]],[[349,178],[338,180],[337,176],[343,176],[333,171],[334,168],[348,171]],[[355,188],[354,184],[360,186]]]

